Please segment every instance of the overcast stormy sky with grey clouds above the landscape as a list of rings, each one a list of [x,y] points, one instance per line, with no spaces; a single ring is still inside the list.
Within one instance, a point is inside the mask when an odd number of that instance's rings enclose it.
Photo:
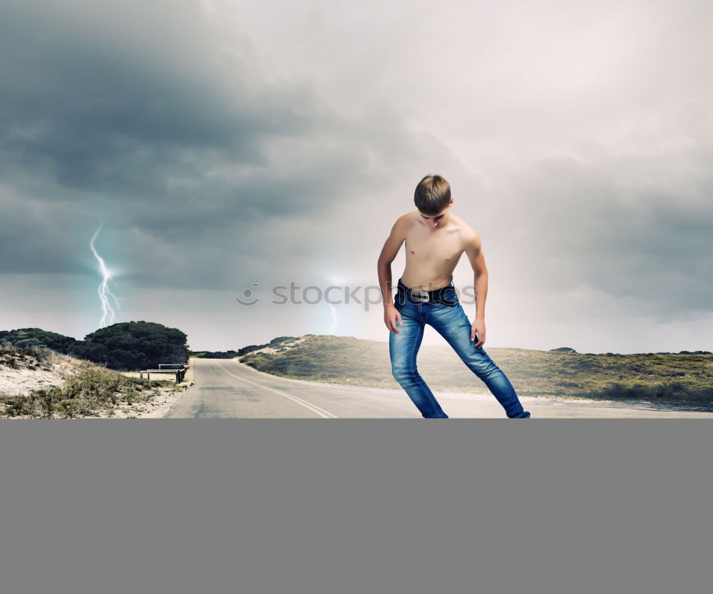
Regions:
[[[100,327],[101,226],[114,322],[388,340],[380,304],[272,287],[363,299],[440,173],[486,348],[713,350],[712,26],[692,0],[3,0],[0,329]]]

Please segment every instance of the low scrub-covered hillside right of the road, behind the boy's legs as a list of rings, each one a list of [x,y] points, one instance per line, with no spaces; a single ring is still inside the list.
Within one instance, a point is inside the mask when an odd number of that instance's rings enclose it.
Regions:
[[[307,334],[289,349],[250,352],[240,362],[262,372],[317,382],[399,388],[391,376],[389,344]],[[592,354],[486,349],[518,394],[649,402],[713,410],[709,352]],[[486,386],[447,346],[423,346],[418,368],[436,391],[482,392]]]

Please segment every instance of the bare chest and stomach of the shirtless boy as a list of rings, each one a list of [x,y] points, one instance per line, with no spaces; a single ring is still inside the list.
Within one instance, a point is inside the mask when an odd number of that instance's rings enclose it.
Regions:
[[[406,268],[401,280],[406,287],[432,291],[450,285],[458,260],[466,250],[471,227],[458,215],[449,213],[448,223],[433,230],[418,210],[406,215]]]

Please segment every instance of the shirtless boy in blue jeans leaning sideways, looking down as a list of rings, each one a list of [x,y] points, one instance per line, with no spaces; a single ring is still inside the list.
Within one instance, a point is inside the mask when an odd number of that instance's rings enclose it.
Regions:
[[[426,175],[416,186],[416,209],[402,215],[379,255],[379,285],[384,297],[384,324],[389,328],[391,373],[424,418],[448,419],[416,368],[416,355],[430,324],[498,399],[511,419],[529,419],[502,370],[483,350],[486,342],[488,269],[481,238],[453,215],[451,186],[440,175]],[[392,293],[391,262],[406,242],[406,270]],[[468,255],[476,287],[476,317],[471,324],[458,302],[453,269]],[[398,320],[398,326],[396,324]],[[477,342],[476,342],[477,339]]]

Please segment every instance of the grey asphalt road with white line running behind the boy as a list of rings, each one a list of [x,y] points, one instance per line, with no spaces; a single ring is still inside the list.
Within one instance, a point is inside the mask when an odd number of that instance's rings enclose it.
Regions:
[[[365,388],[287,379],[237,362],[194,359],[195,384],[165,415],[173,419],[424,419],[402,389]],[[473,377],[473,384],[478,380]],[[426,378],[428,382],[428,378]],[[507,419],[483,385],[482,394],[435,392],[451,419]],[[534,418],[697,417],[711,412],[670,411],[586,400],[520,396]]]

